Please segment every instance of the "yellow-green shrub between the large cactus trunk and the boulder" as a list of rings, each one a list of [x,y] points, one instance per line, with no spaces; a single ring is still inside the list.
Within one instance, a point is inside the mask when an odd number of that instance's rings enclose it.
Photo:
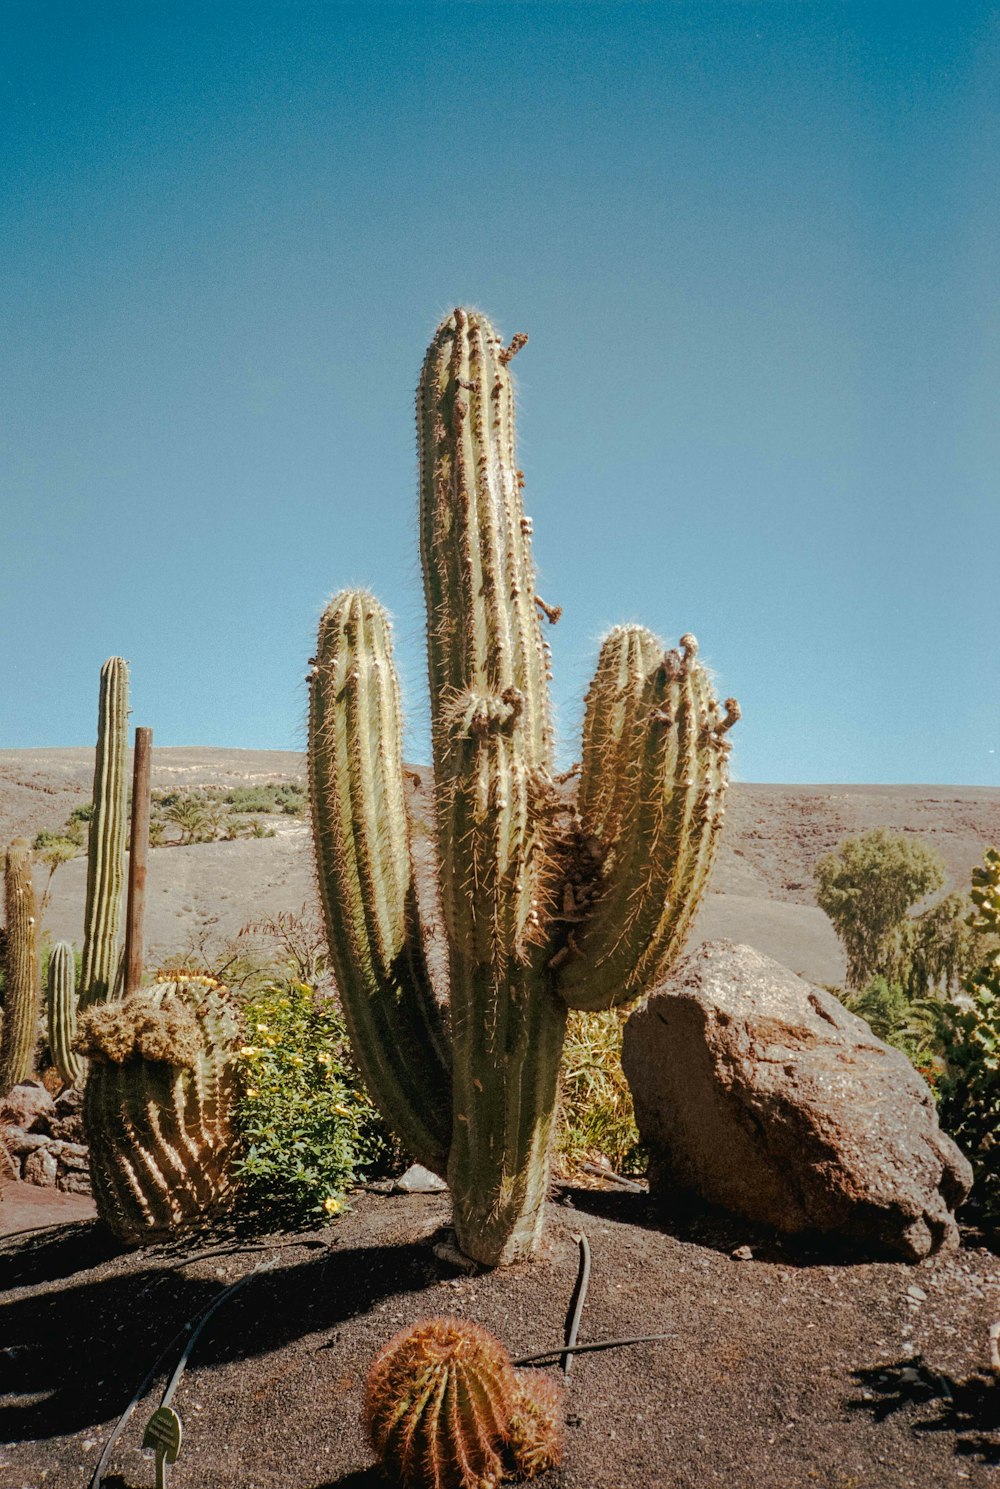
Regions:
[[[571,1011],[560,1072],[557,1161],[570,1178],[582,1163],[604,1157],[616,1173],[643,1173],[632,1096],[622,1071],[622,1026],[628,1011]]]

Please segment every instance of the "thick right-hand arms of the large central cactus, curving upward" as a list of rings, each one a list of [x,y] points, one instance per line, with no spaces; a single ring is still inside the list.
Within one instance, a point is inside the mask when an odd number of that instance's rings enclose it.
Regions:
[[[662,977],[719,841],[725,731],[738,709],[731,700],[722,716],[693,637],[655,660],[650,642],[649,633],[641,640],[613,633],[588,700],[582,829],[601,837],[606,859],[582,923],[567,926],[554,957],[570,1008],[616,1007]],[[618,727],[600,725],[600,713]],[[598,771],[619,785],[595,785]]]

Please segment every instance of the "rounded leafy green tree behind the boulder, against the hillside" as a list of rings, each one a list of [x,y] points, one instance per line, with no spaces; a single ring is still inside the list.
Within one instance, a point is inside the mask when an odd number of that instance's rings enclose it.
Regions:
[[[945,867],[920,838],[884,828],[847,838],[815,865],[815,901],[847,951],[848,987],[900,981],[912,950],[909,911],[940,889]]]

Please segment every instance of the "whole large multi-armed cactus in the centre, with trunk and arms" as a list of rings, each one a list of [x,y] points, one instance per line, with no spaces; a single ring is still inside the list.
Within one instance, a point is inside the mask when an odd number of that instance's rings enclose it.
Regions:
[[[330,602],[311,672],[312,826],[327,937],[372,1097],[446,1176],[461,1249],[536,1249],[565,1010],[640,996],[677,956],[722,825],[729,742],[696,643],[618,627],[586,700],[577,800],[554,774],[549,651],[509,362],[455,310],[417,390],[420,548],[449,1014],[427,975],[388,619]]]

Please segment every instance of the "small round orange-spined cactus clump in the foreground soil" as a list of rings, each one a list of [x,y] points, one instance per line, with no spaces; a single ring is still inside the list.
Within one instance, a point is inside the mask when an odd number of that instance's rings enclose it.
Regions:
[[[494,1489],[562,1456],[557,1382],[515,1371],[500,1340],[466,1319],[423,1319],[391,1339],[369,1370],[363,1415],[403,1489]]]

